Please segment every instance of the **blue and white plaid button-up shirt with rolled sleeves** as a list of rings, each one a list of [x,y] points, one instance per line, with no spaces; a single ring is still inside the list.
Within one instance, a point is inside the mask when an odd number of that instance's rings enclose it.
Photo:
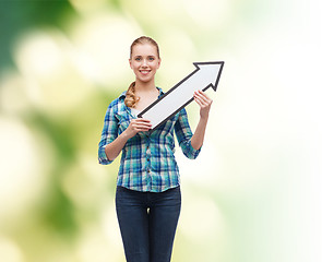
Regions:
[[[159,97],[164,94],[160,88]],[[105,146],[111,143],[128,127],[131,108],[124,104],[126,93],[108,106],[100,142],[98,144],[99,164],[111,163],[105,154]],[[179,168],[175,158],[175,138],[183,154],[194,159],[200,150],[191,146],[192,132],[187,111],[183,108],[153,132],[139,132],[129,139],[122,148],[117,186],[143,192],[163,192],[180,184]]]

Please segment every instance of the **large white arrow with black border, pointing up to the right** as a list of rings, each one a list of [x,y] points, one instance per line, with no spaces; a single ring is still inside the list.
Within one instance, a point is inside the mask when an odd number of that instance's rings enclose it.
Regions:
[[[191,103],[195,91],[205,91],[208,87],[216,91],[224,62],[194,62],[193,64],[196,69],[191,74],[139,114],[138,117],[151,121],[152,130]]]

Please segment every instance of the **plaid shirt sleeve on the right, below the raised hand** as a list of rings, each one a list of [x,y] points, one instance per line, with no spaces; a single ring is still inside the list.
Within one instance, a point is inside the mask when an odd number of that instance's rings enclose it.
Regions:
[[[188,115],[184,108],[179,112],[179,118],[175,124],[175,132],[183,154],[190,159],[195,159],[201,148],[194,150],[191,145],[193,133],[190,129]]]

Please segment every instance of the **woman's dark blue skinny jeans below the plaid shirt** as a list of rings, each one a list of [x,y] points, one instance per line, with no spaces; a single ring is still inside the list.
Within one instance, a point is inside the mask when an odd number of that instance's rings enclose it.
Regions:
[[[181,210],[180,187],[160,193],[117,187],[116,207],[128,262],[169,262]]]

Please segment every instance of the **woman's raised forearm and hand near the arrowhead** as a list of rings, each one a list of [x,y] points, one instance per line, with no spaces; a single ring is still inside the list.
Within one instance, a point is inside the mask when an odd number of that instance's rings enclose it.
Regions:
[[[200,120],[194,134],[191,138],[191,145],[194,150],[199,150],[203,144],[204,133],[213,100],[202,91],[194,92],[193,97],[200,106]]]

